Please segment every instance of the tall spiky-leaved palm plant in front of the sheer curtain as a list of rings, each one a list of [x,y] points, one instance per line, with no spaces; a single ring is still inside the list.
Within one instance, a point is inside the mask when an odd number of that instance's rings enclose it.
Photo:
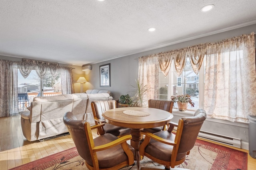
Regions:
[[[146,106],[145,96],[148,92],[147,85],[143,86],[143,84],[139,82],[139,80],[136,81],[136,86],[132,86],[135,92],[134,96],[132,96],[133,106]]]

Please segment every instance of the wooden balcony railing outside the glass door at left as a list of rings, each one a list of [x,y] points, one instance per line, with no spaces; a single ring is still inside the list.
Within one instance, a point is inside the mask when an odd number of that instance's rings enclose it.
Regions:
[[[62,92],[44,92],[44,96],[58,96],[60,94],[62,94]],[[30,106],[34,97],[37,97],[37,96],[38,96],[38,93],[28,93],[28,100],[19,100],[18,101],[19,111],[28,111],[27,107]]]

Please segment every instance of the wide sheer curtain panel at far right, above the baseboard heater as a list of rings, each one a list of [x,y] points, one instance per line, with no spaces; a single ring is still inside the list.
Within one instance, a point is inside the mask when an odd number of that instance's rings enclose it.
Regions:
[[[207,116],[246,122],[256,115],[254,33],[207,47],[204,109]]]

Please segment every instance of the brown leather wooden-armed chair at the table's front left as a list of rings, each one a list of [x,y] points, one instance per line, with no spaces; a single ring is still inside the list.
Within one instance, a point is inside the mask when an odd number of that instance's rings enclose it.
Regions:
[[[104,123],[90,126],[85,120],[77,120],[72,112],[65,113],[63,121],[89,170],[117,170],[134,164],[134,148],[126,142],[131,135],[118,138],[106,133],[93,139],[91,129]]]

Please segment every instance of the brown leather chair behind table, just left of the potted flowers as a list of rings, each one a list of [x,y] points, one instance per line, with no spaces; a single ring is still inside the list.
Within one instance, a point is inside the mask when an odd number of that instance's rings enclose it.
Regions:
[[[148,100],[148,107],[150,108],[156,108],[156,109],[162,109],[165,111],[169,111],[172,113],[174,102],[170,100]],[[156,133],[159,131],[162,131],[163,129],[167,130],[167,127],[153,127],[153,128],[145,128],[144,131],[148,131],[150,133]]]

